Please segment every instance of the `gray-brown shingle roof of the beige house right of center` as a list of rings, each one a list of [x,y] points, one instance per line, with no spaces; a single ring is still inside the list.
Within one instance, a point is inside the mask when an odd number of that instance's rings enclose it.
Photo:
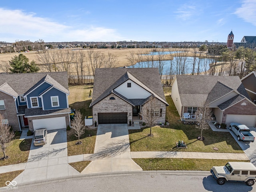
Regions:
[[[182,106],[201,106],[210,92],[209,101],[212,102],[217,99],[217,93],[220,93],[218,90],[213,90],[214,87],[221,88],[224,92],[228,92],[231,88],[249,98],[238,76],[177,75],[176,80]]]

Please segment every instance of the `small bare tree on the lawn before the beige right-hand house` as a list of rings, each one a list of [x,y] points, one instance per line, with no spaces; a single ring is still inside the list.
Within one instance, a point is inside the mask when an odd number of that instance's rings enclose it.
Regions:
[[[201,134],[199,136],[199,140],[203,140],[203,130],[206,130],[209,128],[209,122],[212,119],[212,110],[207,106],[205,103],[202,104],[201,107],[198,107],[196,112],[196,120],[198,121],[198,124],[196,125],[196,128],[201,130]]]

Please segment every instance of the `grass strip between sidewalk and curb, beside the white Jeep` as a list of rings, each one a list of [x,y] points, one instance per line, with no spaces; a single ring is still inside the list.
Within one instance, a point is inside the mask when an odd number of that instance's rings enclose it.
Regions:
[[[224,166],[229,161],[249,162],[244,160],[222,159],[186,159],[186,158],[140,158],[133,159],[144,171],[146,170],[201,170],[209,171],[212,166]]]

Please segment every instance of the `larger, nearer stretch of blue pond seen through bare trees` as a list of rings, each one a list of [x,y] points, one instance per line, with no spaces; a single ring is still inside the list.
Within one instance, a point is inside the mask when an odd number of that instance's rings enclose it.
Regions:
[[[209,70],[209,64],[215,62],[213,59],[209,58],[196,58],[195,60],[195,70],[194,72],[197,72],[198,70],[198,64],[199,64],[199,72],[204,72],[206,70]],[[184,74],[190,74],[193,70],[193,63],[194,63],[194,57],[174,57],[173,60],[164,60],[161,61],[160,65],[163,66],[163,74],[170,73],[170,66],[172,64],[172,72],[174,74],[180,74],[180,66],[184,66]],[[148,67],[156,67],[159,68],[159,62],[154,61],[152,64],[152,61],[150,62],[138,62],[134,66],[129,66],[134,68],[148,68]]]

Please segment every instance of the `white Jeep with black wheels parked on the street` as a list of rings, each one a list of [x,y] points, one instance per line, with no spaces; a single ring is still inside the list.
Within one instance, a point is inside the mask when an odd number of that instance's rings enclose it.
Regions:
[[[219,185],[226,181],[241,181],[252,186],[255,182],[256,167],[250,162],[228,162],[225,166],[213,166],[211,174]]]

